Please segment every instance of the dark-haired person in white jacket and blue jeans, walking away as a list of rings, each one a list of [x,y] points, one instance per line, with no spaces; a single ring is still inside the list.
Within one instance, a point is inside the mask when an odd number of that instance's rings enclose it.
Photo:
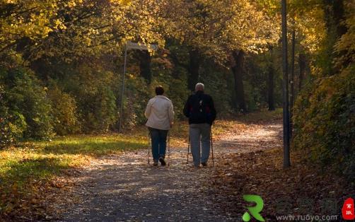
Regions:
[[[153,165],[165,165],[166,137],[168,130],[173,126],[174,108],[173,103],[163,95],[164,88],[156,86],[156,96],[149,100],[146,105],[146,127],[151,134],[151,148],[153,153]]]

